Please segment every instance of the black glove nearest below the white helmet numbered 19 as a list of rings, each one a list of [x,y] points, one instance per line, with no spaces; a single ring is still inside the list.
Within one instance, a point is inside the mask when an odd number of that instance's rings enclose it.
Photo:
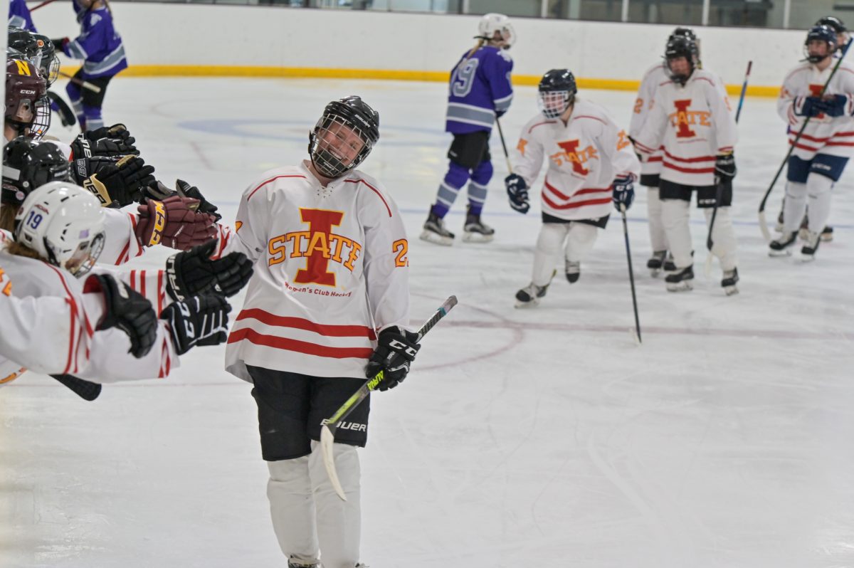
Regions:
[[[130,337],[130,353],[134,357],[148,354],[157,338],[157,314],[151,302],[109,274],[92,274],[86,278],[83,291],[103,295],[106,307],[97,330],[118,327]]]

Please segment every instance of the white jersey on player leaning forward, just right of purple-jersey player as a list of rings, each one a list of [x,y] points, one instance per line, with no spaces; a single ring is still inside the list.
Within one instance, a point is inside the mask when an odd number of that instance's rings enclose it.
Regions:
[[[626,132],[594,102],[576,99],[570,120],[528,121],[516,146],[513,173],[529,187],[548,159],[542,211],[564,220],[599,219],[611,213],[611,183],[620,174],[637,179],[640,162]]]

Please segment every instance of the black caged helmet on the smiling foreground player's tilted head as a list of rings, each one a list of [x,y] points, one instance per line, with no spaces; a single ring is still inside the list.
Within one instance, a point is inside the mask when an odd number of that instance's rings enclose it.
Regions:
[[[352,156],[343,155],[347,131],[362,141],[361,148]],[[361,97],[351,95],[326,105],[313,132],[308,134],[308,155],[318,173],[337,179],[365,161],[378,140],[379,113]]]

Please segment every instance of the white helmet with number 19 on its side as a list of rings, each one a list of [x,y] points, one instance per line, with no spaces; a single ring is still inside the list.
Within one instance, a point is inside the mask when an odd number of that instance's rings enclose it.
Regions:
[[[26,196],[15,216],[15,241],[75,276],[91,270],[104,245],[104,212],[89,191],[65,181]]]

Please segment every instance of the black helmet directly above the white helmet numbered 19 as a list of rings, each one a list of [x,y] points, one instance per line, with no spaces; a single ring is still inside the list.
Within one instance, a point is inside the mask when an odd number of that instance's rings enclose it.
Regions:
[[[67,181],[68,159],[54,143],[19,136],[3,149],[0,202],[20,206],[26,196],[50,181]]]

